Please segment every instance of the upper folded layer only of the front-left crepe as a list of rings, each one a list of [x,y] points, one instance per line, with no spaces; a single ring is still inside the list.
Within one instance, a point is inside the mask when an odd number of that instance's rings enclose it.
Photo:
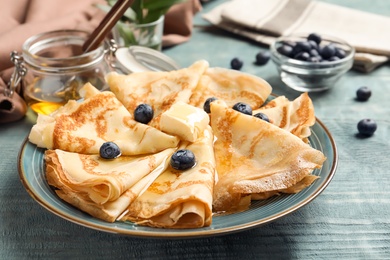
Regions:
[[[56,169],[56,175],[50,176],[58,178],[56,183],[85,192],[95,203],[104,204],[119,198],[173,152],[171,148],[147,156],[121,156],[107,160],[99,155],[47,150],[45,158],[47,167]]]

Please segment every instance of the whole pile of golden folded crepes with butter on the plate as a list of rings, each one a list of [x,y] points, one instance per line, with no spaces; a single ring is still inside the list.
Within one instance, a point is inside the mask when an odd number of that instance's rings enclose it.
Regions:
[[[29,140],[45,153],[46,177],[60,198],[90,215],[163,228],[211,225],[214,212],[235,212],[253,199],[295,193],[310,185],[326,159],[308,144],[314,109],[304,93],[266,103],[271,86],[239,71],[197,61],[171,72],[110,73],[111,91],[86,84],[82,101],[39,115]],[[211,113],[203,110],[209,97]],[[249,104],[270,122],[231,107]],[[148,124],[134,120],[150,104]],[[115,142],[121,156],[103,159]],[[173,169],[177,149],[195,154],[194,167]]]

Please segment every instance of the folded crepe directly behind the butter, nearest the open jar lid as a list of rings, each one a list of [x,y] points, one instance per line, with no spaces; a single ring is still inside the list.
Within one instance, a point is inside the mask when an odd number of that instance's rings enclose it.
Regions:
[[[111,72],[106,76],[106,81],[132,116],[138,105],[145,103],[152,106],[154,118],[149,125],[157,126],[161,113],[172,104],[178,101],[188,103],[208,66],[207,61],[201,60],[188,68],[169,72],[148,71],[130,75]]]

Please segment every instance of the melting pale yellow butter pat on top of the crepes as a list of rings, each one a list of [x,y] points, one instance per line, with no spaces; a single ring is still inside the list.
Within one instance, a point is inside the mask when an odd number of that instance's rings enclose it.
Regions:
[[[161,114],[160,130],[181,140],[194,142],[209,124],[209,115],[200,108],[177,102]]]

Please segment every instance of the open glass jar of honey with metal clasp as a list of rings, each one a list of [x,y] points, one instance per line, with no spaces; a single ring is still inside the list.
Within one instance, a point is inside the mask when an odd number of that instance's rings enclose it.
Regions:
[[[50,114],[68,100],[80,99],[79,90],[90,82],[99,90],[108,89],[104,77],[113,70],[107,58],[107,42],[84,53],[89,34],[61,30],[38,34],[23,44],[24,99],[37,113]]]

